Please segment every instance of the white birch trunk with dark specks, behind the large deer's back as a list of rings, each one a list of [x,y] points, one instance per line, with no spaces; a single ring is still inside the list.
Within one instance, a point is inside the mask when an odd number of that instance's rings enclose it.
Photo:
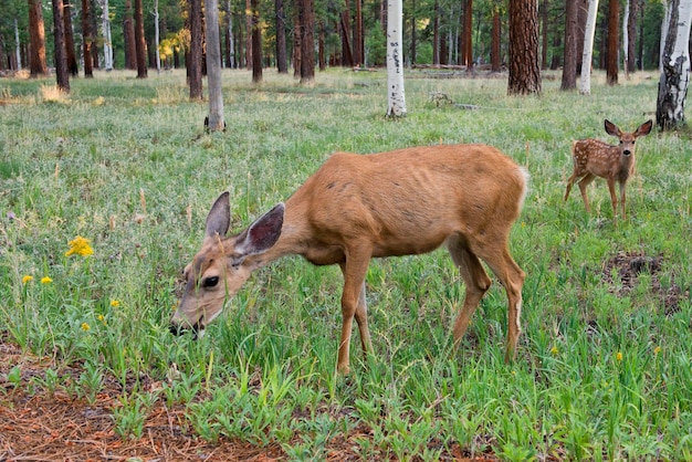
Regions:
[[[387,116],[406,116],[402,0],[387,0]]]

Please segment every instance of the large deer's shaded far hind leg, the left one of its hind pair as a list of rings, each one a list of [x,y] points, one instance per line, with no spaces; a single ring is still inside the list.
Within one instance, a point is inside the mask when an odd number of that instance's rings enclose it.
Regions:
[[[461,273],[466,286],[463,306],[454,322],[454,347],[459,347],[461,338],[466,333],[471,316],[481,303],[481,298],[490,288],[490,277],[475,254],[471,252],[465,240],[461,237],[450,238],[447,244],[454,264]]]

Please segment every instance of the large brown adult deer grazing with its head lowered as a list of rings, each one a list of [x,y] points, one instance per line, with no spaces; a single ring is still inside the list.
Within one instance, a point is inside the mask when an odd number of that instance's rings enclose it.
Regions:
[[[364,353],[371,350],[365,295],[370,259],[431,252],[444,243],[466,286],[453,327],[454,346],[490,287],[483,260],[507,294],[510,361],[521,332],[525,274],[512,259],[507,240],[527,181],[523,168],[484,145],[337,153],[285,204],[232,237],[226,237],[230,204],[223,192],[207,217],[201,250],[185,269],[187,285],[171,332],[203,334],[253,271],[298,254],[316,265],[338,264],[344,274],[337,370],[347,374],[354,317]]]

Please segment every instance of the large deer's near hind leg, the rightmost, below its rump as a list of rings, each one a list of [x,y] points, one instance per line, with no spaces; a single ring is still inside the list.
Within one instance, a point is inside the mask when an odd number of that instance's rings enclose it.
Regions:
[[[516,357],[516,346],[522,333],[522,286],[526,274],[514,262],[507,249],[507,235],[479,243],[475,253],[491,267],[507,293],[507,343],[504,355],[505,363]]]

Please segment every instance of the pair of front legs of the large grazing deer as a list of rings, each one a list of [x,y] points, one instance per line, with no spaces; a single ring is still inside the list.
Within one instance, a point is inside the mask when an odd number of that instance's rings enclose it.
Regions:
[[[370,332],[365,303],[365,275],[370,262],[369,251],[346,252],[346,262],[340,264],[344,273],[342,294],[342,336],[338,345],[336,368],[340,374],[349,371],[350,332],[356,318],[364,350],[370,347]]]

